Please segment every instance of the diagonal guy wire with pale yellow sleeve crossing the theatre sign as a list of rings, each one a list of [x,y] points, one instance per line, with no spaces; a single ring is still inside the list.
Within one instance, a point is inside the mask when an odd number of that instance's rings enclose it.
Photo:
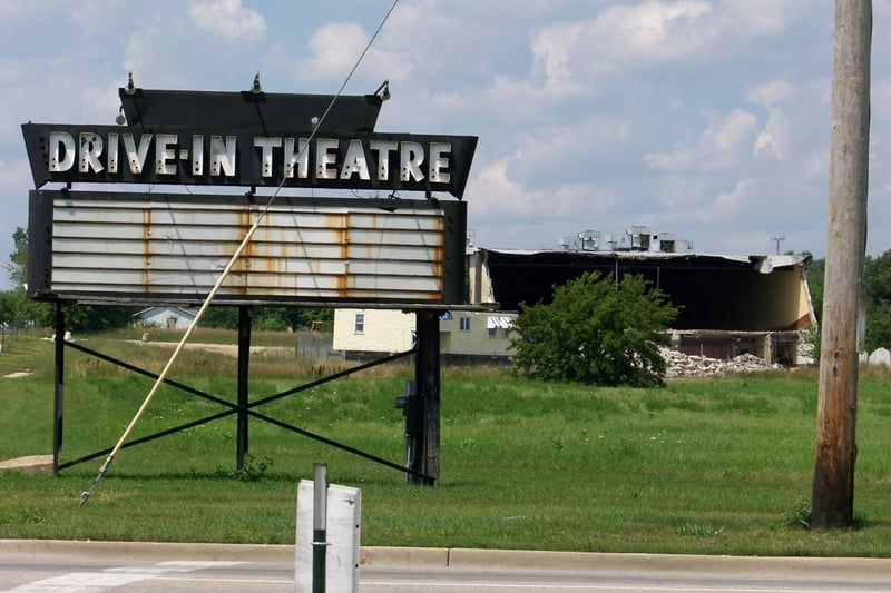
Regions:
[[[337,92],[334,95],[334,97],[331,99],[331,102],[329,103],[329,106],[325,109],[325,111],[322,113],[322,117],[320,117],[319,121],[315,122],[315,126],[313,127],[313,130],[310,134],[310,138],[309,138],[307,142],[304,145],[304,147],[301,149],[301,152],[300,152],[298,157],[302,157],[303,152],[305,150],[307,150],[307,147],[310,146],[310,142],[312,142],[312,139],[317,134],[319,128],[322,126],[322,122],[325,120],[327,115],[331,112],[331,109],[334,107],[334,103],[337,101],[340,96],[343,93],[343,90],[346,88],[346,85],[350,82],[350,79],[352,79],[353,75],[359,69],[359,66],[362,63],[362,60],[364,60],[365,55],[371,49],[371,46],[378,39],[378,36],[380,34],[381,30],[383,30],[384,24],[386,24],[386,21],[390,19],[390,14],[393,13],[393,10],[396,8],[396,4],[399,4],[399,0],[393,0],[393,3],[390,6],[390,9],[386,11],[386,14],[384,14],[383,19],[381,20],[381,23],[374,30],[374,33],[371,36],[371,39],[369,39],[369,42],[365,45],[365,49],[362,50],[362,53],[359,56],[359,58],[356,59],[356,61],[353,65],[352,69],[346,75],[346,78],[344,78],[343,83],[337,89]],[[290,168],[293,168],[294,165],[296,162],[298,162],[298,161],[300,161],[300,158],[295,159],[295,161],[290,165]],[[217,278],[216,283],[214,284],[214,287],[207,294],[207,297],[204,299],[204,303],[202,304],[200,308],[198,309],[198,313],[195,314],[195,319],[192,322],[192,325],[189,325],[188,328],[186,329],[186,332],[183,334],[183,337],[180,338],[179,344],[177,344],[176,348],[174,349],[174,353],[170,355],[170,358],[167,360],[167,364],[164,366],[164,369],[160,372],[158,377],[155,379],[155,384],[151,386],[151,389],[148,392],[148,395],[146,395],[145,401],[139,406],[139,409],[136,412],[136,415],[133,417],[133,419],[130,421],[129,425],[127,425],[127,428],[124,431],[124,434],[118,439],[117,444],[115,445],[115,448],[111,449],[111,453],[108,454],[108,457],[102,463],[101,467],[99,467],[99,473],[96,475],[96,478],[90,484],[89,490],[84,491],[80,494],[80,502],[79,502],[78,506],[84,506],[90,500],[90,496],[92,495],[92,491],[96,488],[96,486],[99,484],[101,478],[105,476],[106,472],[108,472],[108,468],[110,467],[111,463],[115,461],[115,456],[118,454],[120,448],[124,446],[124,443],[127,441],[127,437],[130,435],[130,433],[133,432],[134,427],[139,422],[139,418],[145,413],[145,411],[148,407],[148,404],[151,402],[153,397],[155,397],[155,394],[158,392],[160,385],[164,384],[164,382],[167,379],[167,375],[169,374],[170,368],[173,367],[174,363],[176,362],[176,358],[179,356],[179,353],[183,350],[183,347],[186,345],[188,339],[192,337],[193,332],[198,326],[198,322],[200,320],[202,316],[204,315],[204,312],[207,310],[207,307],[210,305],[210,303],[213,302],[214,297],[219,291],[219,288],[223,286],[223,283],[226,280],[226,277],[232,271],[232,268],[235,266],[235,263],[238,260],[238,258],[242,256],[242,254],[244,253],[244,250],[247,247],[247,245],[251,243],[252,238],[254,237],[254,234],[256,233],[257,228],[260,227],[260,224],[266,217],[266,214],[270,211],[270,208],[272,208],[272,205],[275,201],[275,198],[278,196],[278,194],[282,190],[282,187],[284,186],[285,179],[287,179],[287,175],[283,175],[282,176],[282,181],[275,188],[275,191],[272,194],[272,196],[270,197],[268,201],[263,207],[263,209],[257,214],[256,220],[254,220],[254,224],[251,226],[251,228],[248,229],[247,234],[245,234],[245,237],[242,240],[241,245],[238,245],[238,248],[235,249],[235,253],[229,258],[228,264],[223,269],[223,271],[219,274],[219,278]]]

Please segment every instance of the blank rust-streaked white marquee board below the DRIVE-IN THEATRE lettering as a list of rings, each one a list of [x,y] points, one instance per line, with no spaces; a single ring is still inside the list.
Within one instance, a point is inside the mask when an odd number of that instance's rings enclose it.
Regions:
[[[42,191],[50,248],[38,297],[206,295],[256,220],[248,197]],[[443,208],[460,202],[292,198],[270,209],[219,296],[262,300],[449,299],[463,278]],[[463,215],[463,211],[459,213]],[[39,218],[39,217],[38,217]],[[447,274],[448,269],[448,274]],[[461,290],[451,290],[456,295]]]

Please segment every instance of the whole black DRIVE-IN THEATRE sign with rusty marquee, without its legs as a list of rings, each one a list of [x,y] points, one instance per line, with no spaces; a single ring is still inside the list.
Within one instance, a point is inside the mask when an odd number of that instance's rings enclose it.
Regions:
[[[23,125],[38,188],[30,236],[48,235],[31,241],[29,293],[199,302],[266,204],[256,188],[282,186],[373,197],[277,197],[218,300],[464,303],[461,198],[477,138],[375,132],[379,95],[340,97],[333,107],[331,99],[125,88],[118,119],[126,125]],[[40,189],[50,182],[66,189]],[[153,189],[74,191],[71,184]],[[163,194],[156,185],[252,189]],[[409,191],[422,199],[398,197]]]

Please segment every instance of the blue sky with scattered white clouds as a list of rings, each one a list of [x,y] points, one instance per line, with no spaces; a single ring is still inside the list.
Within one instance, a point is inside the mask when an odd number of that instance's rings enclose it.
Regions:
[[[891,0],[872,4],[880,255]],[[0,0],[0,263],[28,226],[22,123],[111,125],[128,72],[146,89],[239,91],[258,71],[267,92],[334,95],[392,6]],[[696,253],[824,257],[833,31],[830,0],[399,0],[344,93],[389,80],[378,131],[479,137],[464,192],[477,246],[645,226]]]

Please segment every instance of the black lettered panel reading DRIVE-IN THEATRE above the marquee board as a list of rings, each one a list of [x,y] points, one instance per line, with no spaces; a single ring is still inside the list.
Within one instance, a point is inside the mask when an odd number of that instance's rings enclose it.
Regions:
[[[474,138],[310,131],[23,126],[35,184],[137,182],[448,191],[461,197]],[[290,134],[290,135],[287,135]]]

